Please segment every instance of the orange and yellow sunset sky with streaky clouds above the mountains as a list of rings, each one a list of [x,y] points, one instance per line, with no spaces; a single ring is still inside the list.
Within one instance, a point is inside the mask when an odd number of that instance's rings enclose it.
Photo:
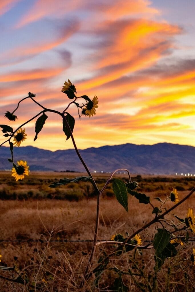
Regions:
[[[99,99],[94,117],[70,107],[78,148],[195,146],[194,11],[194,0],[1,0],[0,124],[15,129],[41,110],[25,100],[15,123],[4,118],[29,91],[62,112],[70,79],[78,96]],[[73,148],[60,117],[47,115],[35,142],[36,119],[25,126],[21,146]]]

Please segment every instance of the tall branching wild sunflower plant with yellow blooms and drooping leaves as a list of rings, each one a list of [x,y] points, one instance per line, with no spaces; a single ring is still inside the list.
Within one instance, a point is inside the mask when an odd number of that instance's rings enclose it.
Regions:
[[[89,261],[85,268],[82,280],[79,284],[80,288],[82,288],[85,285],[85,283],[89,281],[92,275],[94,275],[95,277],[94,286],[97,286],[99,284],[99,281],[101,281],[101,275],[103,274],[103,272],[106,269],[111,269],[117,273],[117,278],[115,279],[115,282],[113,284],[113,286],[116,289],[115,291],[128,291],[128,288],[123,283],[122,274],[126,274],[132,277],[134,282],[140,288],[139,284],[140,281],[137,278],[137,275],[139,275],[140,278],[143,278],[143,283],[145,283],[145,284],[142,283],[141,291],[153,291],[153,288],[157,289],[155,280],[156,275],[163,266],[165,260],[168,258],[175,257],[180,248],[183,248],[186,244],[189,244],[189,234],[195,234],[195,216],[193,213],[193,209],[188,208],[185,218],[180,218],[177,215],[173,215],[174,218],[172,219],[166,218],[166,215],[168,215],[177,206],[179,206],[185,200],[187,200],[193,194],[195,189],[193,188],[193,190],[191,190],[191,192],[189,192],[187,196],[185,196],[183,199],[180,199],[177,189],[173,187],[172,190],[170,190],[170,195],[168,195],[164,199],[164,201],[160,197],[155,197],[153,201],[151,201],[151,198],[149,196],[137,191],[139,190],[139,185],[136,181],[131,180],[129,170],[120,168],[115,170],[110,175],[103,188],[99,190],[91,172],[89,171],[89,168],[85,164],[79,150],[77,149],[73,137],[75,118],[68,112],[70,105],[74,105],[77,110],[79,119],[81,119],[81,116],[89,118],[93,117],[96,114],[96,109],[98,108],[99,103],[98,98],[96,95],[94,95],[94,98],[89,98],[87,95],[77,96],[76,87],[69,79],[68,81],[65,81],[64,85],[62,86],[61,92],[66,95],[67,101],[69,101],[68,105],[62,112],[59,112],[55,109],[49,109],[44,107],[39,102],[37,102],[37,100],[35,99],[36,95],[31,92],[28,93],[28,96],[22,98],[18,102],[18,105],[13,112],[6,111],[5,118],[7,118],[10,122],[14,122],[17,119],[17,116],[14,113],[18,109],[20,103],[23,102],[24,100],[30,99],[32,102],[36,103],[41,108],[40,112],[38,112],[34,117],[31,117],[26,122],[24,122],[15,130],[13,130],[13,128],[9,125],[6,124],[0,125],[4,137],[7,138],[7,140],[5,140],[1,145],[4,145],[6,142],[8,142],[10,147],[11,158],[8,158],[8,161],[13,165],[11,175],[18,183],[20,183],[20,181],[25,178],[25,175],[27,176],[29,175],[30,167],[27,165],[27,161],[19,160],[17,161],[17,164],[15,164],[13,155],[14,147],[15,146],[20,147],[21,143],[23,143],[27,139],[27,134],[25,133],[25,128],[23,128],[23,126],[28,124],[30,121],[36,119],[34,137],[35,141],[37,140],[39,133],[42,131],[42,128],[44,127],[44,124],[47,121],[48,116],[46,115],[46,113],[53,112],[54,114],[59,115],[62,119],[62,129],[63,133],[66,136],[66,140],[68,140],[69,138],[72,139],[75,152],[79,157],[81,163],[83,164],[87,172],[87,176],[79,176],[71,179],[64,178],[61,179],[59,182],[52,183],[49,187],[55,188],[61,185],[67,185],[68,183],[77,183],[80,181],[84,181],[90,182],[93,185],[94,191],[96,192],[97,195],[96,225],[94,231],[94,239]],[[114,178],[114,174],[120,170],[127,171],[128,181],[123,181],[121,179]],[[127,212],[129,211],[128,197],[130,197],[130,199],[131,197],[134,197],[135,199],[137,199],[138,204],[145,204],[148,205],[149,208],[151,208],[151,220],[139,228],[138,227],[134,228],[134,231],[131,234],[129,234],[128,231],[126,232],[126,235],[123,235],[122,233],[115,233],[111,236],[110,240],[106,242],[105,241],[98,242],[97,239],[99,231],[100,198],[104,190],[110,183],[112,184],[113,192],[115,194],[116,199],[123,206],[125,211]],[[168,202],[172,203],[172,206],[170,208],[167,208]],[[156,204],[158,205],[156,206]],[[175,220],[177,221],[175,222]],[[157,223],[158,228],[155,229],[155,233],[149,234],[149,227]],[[159,228],[159,224],[161,228]],[[145,241],[144,238],[142,237],[141,232],[143,231],[148,232],[151,238],[149,241]],[[101,247],[101,245],[103,244],[110,244],[111,250],[109,250],[109,253],[102,251],[99,261],[96,264],[96,267],[93,270],[91,270],[96,247],[97,246]],[[143,273],[143,268],[139,267],[136,267],[136,269],[138,269],[139,272],[134,273],[132,272],[131,269],[129,269],[128,271],[123,271],[120,269],[116,269],[115,266],[114,267],[109,266],[111,265],[110,264],[111,258],[113,259],[113,257],[122,256],[122,254],[125,253],[128,254],[133,253],[133,259],[135,261],[136,255],[141,257],[143,256],[144,249],[154,250],[153,257],[155,277],[152,276],[146,279]],[[191,262],[193,262],[194,265],[194,248],[191,254]],[[136,265],[136,262],[134,262],[134,265]],[[0,266],[0,269],[3,268],[4,267]],[[15,281],[17,282],[17,280]],[[18,283],[21,284],[21,281]]]

